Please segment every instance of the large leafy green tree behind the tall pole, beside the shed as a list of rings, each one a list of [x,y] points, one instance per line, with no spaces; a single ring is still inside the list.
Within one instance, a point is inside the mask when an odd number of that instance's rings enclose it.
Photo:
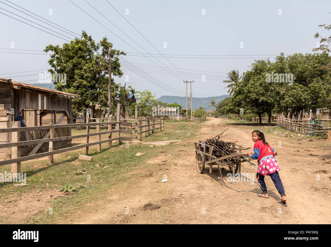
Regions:
[[[66,82],[55,82],[55,88],[67,93],[74,93],[80,97],[72,99],[72,113],[77,115],[92,108],[93,117],[107,109],[108,103],[108,69],[109,47],[113,44],[106,37],[96,43],[92,36],[82,31],[81,38],[75,38],[70,43],[48,45],[45,52],[53,54],[48,63],[51,74],[66,74]],[[112,49],[112,74],[121,77],[118,55],[125,55],[124,51]],[[118,86],[111,79],[112,98],[118,94]],[[100,105],[98,109],[96,106]],[[113,109],[116,105],[113,105]]]

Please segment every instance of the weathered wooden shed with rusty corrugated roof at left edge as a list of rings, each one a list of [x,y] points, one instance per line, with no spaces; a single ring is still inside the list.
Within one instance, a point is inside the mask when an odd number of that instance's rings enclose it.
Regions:
[[[10,128],[12,121],[21,126],[40,126],[72,123],[71,99],[77,94],[14,82],[0,77],[0,128]],[[21,141],[47,138],[49,130],[21,132]],[[46,137],[45,137],[46,136]],[[71,136],[71,128],[56,129],[56,137]],[[9,133],[0,134],[0,143],[10,143]],[[71,140],[58,141],[54,148],[71,144]],[[21,155],[48,151],[48,143],[21,147]],[[10,158],[10,148],[0,149],[0,159]]]

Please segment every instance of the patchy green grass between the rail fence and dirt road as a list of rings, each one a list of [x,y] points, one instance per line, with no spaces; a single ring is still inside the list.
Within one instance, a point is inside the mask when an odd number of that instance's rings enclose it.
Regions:
[[[165,141],[165,140],[185,140],[196,137],[196,132],[203,122],[165,122],[164,131],[157,130],[155,134],[142,137],[144,142]],[[106,130],[106,128],[103,128]],[[103,131],[102,130],[102,131]],[[96,129],[90,129],[90,133],[95,133]],[[86,129],[72,129],[72,135],[85,134]],[[134,132],[133,132],[134,137]],[[96,138],[96,137],[94,137]],[[106,139],[106,135],[102,137]],[[85,143],[85,138],[75,139],[74,145]],[[90,138],[90,142],[93,142]],[[85,149],[79,149],[67,153],[54,155],[54,164],[49,165],[47,158],[39,160],[25,161],[21,163],[22,171],[26,172],[27,186],[14,188],[14,183],[0,183],[0,206],[7,205],[9,201],[15,203],[16,198],[30,198],[31,193],[48,191],[49,194],[58,192],[66,184],[74,187],[85,185],[86,188],[74,193],[74,196],[53,199],[50,205],[53,214],[48,214],[48,210],[36,216],[26,217],[21,223],[58,223],[61,218],[81,210],[81,207],[92,201],[100,200],[105,193],[114,185],[125,182],[129,179],[139,179],[141,174],[149,173],[151,164],[147,160],[160,155],[161,151],[167,153],[175,152],[177,145],[166,145],[158,147],[139,146],[129,143],[125,148],[125,143],[118,145],[113,142],[113,147],[108,147],[107,143],[102,144],[102,151],[97,152],[96,146],[89,147],[89,156],[93,161],[78,159],[79,154],[84,154]],[[142,156],[135,156],[136,153],[145,153]],[[71,156],[68,159],[67,156]],[[139,169],[138,169],[139,168]],[[86,169],[84,173],[79,169]],[[0,172],[10,171],[11,166],[1,166]],[[130,173],[131,171],[137,171]],[[90,181],[87,179],[90,175]],[[64,203],[65,201],[65,203]],[[47,206],[48,207],[48,206]],[[70,209],[70,210],[68,210]],[[64,211],[63,211],[64,210]],[[0,223],[8,223],[10,215],[1,215]],[[61,221],[65,223],[66,221]]]

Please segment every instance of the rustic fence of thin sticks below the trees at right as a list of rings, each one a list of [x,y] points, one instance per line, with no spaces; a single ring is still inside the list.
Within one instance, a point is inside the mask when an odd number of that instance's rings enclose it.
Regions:
[[[314,128],[311,119],[291,119],[280,115],[277,120],[277,126],[283,126],[287,130],[313,136],[314,134],[328,133],[331,130],[331,119],[315,119]]]

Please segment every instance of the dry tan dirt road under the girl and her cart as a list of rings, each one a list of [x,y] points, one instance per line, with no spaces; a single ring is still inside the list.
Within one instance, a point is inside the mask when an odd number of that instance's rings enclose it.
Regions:
[[[247,125],[213,119],[203,124],[200,140],[214,137],[225,128],[225,141],[237,141],[253,147]],[[330,144],[307,142],[265,133],[270,146],[278,152],[280,177],[288,198],[288,207],[277,203],[279,194],[269,177],[265,178],[270,199],[256,183],[256,167],[243,163],[242,173],[252,173],[255,183],[220,180],[216,169],[212,174],[196,171],[193,141],[182,142],[181,151],[172,153],[178,165],[151,169],[141,180],[130,180],[114,187],[98,207],[75,214],[72,223],[331,223]],[[278,148],[281,142],[282,147]],[[252,150],[252,149],[251,149]],[[312,156],[312,155],[317,156]],[[150,160],[158,164],[166,154]],[[324,159],[323,159],[324,158]],[[322,171],[320,171],[322,170]],[[317,171],[317,172],[316,172]],[[223,177],[229,171],[222,171]],[[319,181],[316,179],[319,175]],[[167,182],[161,182],[162,179]]]

